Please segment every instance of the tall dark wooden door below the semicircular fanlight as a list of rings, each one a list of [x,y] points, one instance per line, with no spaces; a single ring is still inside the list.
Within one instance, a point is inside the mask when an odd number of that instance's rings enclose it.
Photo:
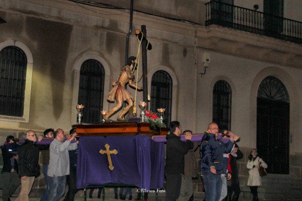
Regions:
[[[257,98],[257,150],[268,173],[289,173],[289,103]]]

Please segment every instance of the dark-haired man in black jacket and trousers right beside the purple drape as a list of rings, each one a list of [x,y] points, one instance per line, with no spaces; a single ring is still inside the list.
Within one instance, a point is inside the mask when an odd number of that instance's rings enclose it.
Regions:
[[[185,154],[189,149],[193,149],[191,142],[192,133],[185,135],[186,142],[180,140],[182,134],[181,125],[177,121],[170,123],[170,134],[167,135],[167,155],[166,155],[166,201],[178,199],[181,188],[181,177],[184,176]]]

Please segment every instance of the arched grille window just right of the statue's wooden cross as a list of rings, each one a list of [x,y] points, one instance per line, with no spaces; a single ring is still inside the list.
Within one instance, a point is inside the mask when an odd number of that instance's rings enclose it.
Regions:
[[[165,108],[165,124],[168,127],[171,122],[172,106],[172,78],[164,70],[154,73],[151,81],[150,110],[157,112],[159,108]]]

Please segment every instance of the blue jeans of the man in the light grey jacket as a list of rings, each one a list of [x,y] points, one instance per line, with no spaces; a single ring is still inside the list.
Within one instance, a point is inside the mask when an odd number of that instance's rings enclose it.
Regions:
[[[65,192],[66,175],[65,176],[49,176],[49,192],[47,201],[58,201]]]

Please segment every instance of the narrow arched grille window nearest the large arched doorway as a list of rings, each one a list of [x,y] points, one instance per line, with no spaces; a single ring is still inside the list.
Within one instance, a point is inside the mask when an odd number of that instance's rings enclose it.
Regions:
[[[219,80],[213,88],[213,122],[219,128],[231,130],[232,89],[228,82]]]

